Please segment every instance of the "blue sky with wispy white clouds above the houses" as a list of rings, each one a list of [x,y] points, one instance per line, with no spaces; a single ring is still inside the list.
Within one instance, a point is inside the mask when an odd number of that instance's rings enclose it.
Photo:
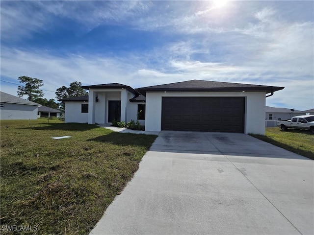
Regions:
[[[1,91],[24,75],[48,99],[74,81],[200,79],[285,86],[266,105],[314,108],[314,1],[221,3],[1,0]]]

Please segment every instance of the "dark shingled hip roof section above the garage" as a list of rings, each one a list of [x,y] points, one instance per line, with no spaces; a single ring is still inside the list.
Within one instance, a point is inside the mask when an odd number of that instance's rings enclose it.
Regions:
[[[205,80],[190,80],[184,82],[175,82],[157,86],[141,87],[136,89],[140,93],[146,92],[238,92],[238,91],[259,91],[259,92],[275,92],[285,87],[272,87],[253,84],[231,83],[231,82],[215,82]]]

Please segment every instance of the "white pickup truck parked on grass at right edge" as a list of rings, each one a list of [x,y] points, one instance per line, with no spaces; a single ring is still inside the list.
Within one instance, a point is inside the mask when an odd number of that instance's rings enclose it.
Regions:
[[[283,131],[296,128],[310,130],[314,134],[314,115],[295,116],[291,120],[277,121],[277,126],[280,126]]]

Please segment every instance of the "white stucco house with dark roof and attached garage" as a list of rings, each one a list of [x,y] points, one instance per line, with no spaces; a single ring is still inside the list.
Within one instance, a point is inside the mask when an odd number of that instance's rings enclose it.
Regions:
[[[138,118],[146,131],[246,134],[265,133],[265,99],[284,89],[205,80],[138,89],[119,83],[82,88],[87,89],[89,95],[62,100],[65,102],[65,122],[103,124],[111,123],[113,119]]]

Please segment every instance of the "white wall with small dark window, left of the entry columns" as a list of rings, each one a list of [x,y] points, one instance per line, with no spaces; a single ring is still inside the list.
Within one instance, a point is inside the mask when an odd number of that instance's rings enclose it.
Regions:
[[[88,102],[67,101],[65,102],[65,122],[87,123],[88,113],[81,113],[81,104]]]

